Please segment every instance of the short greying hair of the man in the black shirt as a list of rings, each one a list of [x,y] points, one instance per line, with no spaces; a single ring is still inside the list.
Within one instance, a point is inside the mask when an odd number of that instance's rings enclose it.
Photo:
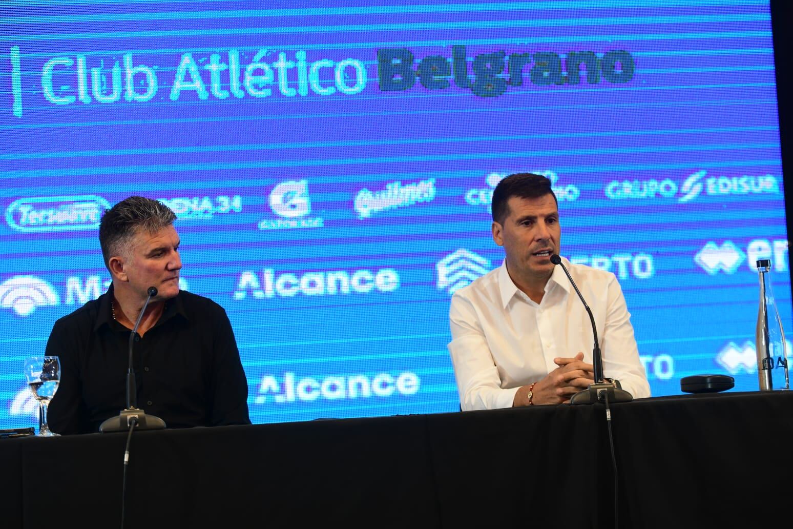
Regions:
[[[176,214],[162,202],[145,197],[128,197],[105,211],[99,224],[99,245],[109,269],[113,255],[121,255],[139,229],[149,233],[174,224]]]

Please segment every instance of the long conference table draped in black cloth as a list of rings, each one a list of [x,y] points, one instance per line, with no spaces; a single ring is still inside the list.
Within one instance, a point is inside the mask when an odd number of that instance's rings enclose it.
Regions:
[[[791,410],[611,404],[616,496],[603,404],[136,431],[125,527],[764,527],[787,512]],[[121,526],[125,443],[0,439],[0,527]]]

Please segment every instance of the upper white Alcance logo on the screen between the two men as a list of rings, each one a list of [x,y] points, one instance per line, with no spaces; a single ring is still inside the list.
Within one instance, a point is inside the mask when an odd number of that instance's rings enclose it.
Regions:
[[[400,277],[397,270],[383,268],[372,270],[329,270],[323,272],[306,272],[293,274],[285,272],[276,274],[272,268],[262,270],[261,279],[251,271],[239,274],[237,288],[233,297],[236,301],[243,300],[251,294],[253,299],[269,299],[272,297],[304,296],[335,296],[337,294],[368,294],[374,292],[389,293],[398,289]]]

